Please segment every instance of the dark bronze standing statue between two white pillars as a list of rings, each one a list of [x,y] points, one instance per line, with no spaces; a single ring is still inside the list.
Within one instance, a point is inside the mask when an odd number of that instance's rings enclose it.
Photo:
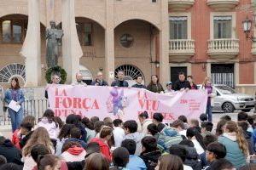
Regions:
[[[58,65],[59,43],[63,37],[63,30],[55,28],[55,21],[49,21],[50,28],[46,30],[46,64],[48,68]]]

